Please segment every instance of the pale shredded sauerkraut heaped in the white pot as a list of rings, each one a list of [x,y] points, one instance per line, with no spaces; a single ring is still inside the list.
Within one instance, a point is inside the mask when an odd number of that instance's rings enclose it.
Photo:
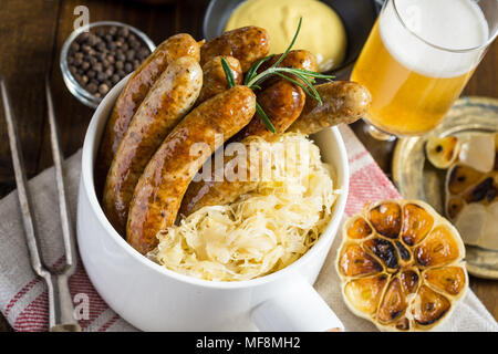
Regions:
[[[245,143],[264,152],[270,178],[230,205],[204,207],[158,232],[152,259],[181,274],[241,281],[291,264],[317,242],[340,192],[318,146],[294,133]]]

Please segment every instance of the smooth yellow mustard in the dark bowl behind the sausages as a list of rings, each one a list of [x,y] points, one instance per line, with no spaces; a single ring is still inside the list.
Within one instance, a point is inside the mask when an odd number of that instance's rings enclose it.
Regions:
[[[347,44],[344,25],[334,10],[318,0],[247,0],[234,11],[225,30],[261,27],[270,34],[270,52],[278,54],[291,42],[301,17],[293,49],[315,54],[321,72],[339,66]]]

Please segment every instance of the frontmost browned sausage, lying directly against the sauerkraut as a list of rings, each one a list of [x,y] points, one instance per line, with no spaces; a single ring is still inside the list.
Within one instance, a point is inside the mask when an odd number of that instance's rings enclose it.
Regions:
[[[197,170],[224,139],[249,123],[255,111],[253,92],[247,86],[235,86],[197,106],[169,133],[133,195],[126,227],[126,240],[132,247],[145,254],[157,244],[157,231],[175,222],[181,198]]]

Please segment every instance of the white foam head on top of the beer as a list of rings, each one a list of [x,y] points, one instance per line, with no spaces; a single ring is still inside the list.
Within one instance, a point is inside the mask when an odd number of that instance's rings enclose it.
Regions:
[[[433,77],[473,70],[483,50],[453,51],[480,46],[489,37],[486,18],[473,0],[393,0],[381,15],[380,30],[384,45],[401,64]]]

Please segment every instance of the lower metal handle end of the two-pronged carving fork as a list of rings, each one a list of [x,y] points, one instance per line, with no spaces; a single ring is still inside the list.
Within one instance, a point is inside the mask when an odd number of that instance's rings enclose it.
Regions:
[[[81,332],[74,317],[74,305],[69,290],[68,275],[49,275],[49,329],[50,332]]]

